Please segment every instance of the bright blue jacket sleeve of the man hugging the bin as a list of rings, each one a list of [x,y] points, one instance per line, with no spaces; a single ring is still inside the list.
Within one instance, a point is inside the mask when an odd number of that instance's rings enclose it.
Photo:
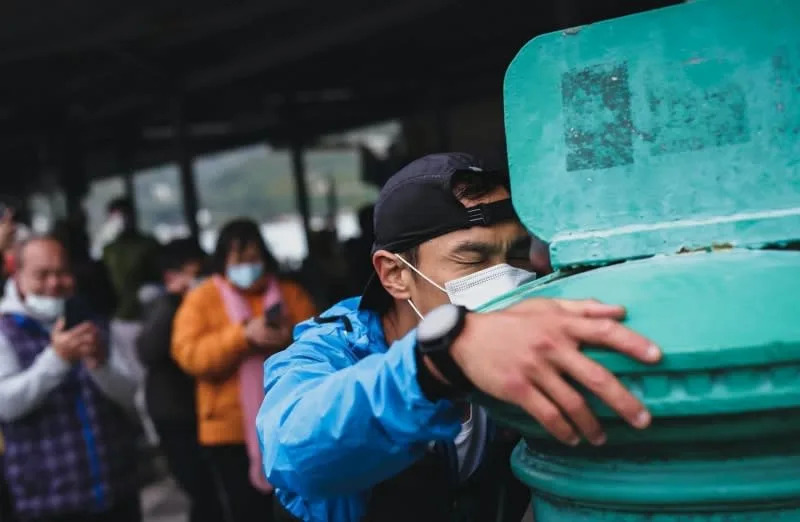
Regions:
[[[353,364],[338,331],[320,330],[265,366],[256,428],[276,488],[304,498],[357,493],[407,468],[428,442],[456,437],[457,408],[419,388],[414,332]]]

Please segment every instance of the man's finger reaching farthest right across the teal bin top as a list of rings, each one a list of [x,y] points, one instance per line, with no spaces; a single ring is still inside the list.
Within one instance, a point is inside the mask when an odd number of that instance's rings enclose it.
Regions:
[[[661,350],[649,339],[613,319],[576,317],[565,321],[564,329],[567,335],[581,344],[611,348],[647,363],[661,359]]]

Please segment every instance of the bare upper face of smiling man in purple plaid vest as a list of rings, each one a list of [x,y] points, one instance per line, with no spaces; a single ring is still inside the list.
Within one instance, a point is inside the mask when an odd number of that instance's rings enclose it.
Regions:
[[[24,296],[68,297],[75,281],[67,265],[63,247],[51,239],[33,240],[22,249],[17,287]]]

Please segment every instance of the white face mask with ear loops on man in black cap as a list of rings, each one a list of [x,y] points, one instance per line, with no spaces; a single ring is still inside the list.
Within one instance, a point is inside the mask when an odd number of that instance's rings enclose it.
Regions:
[[[536,278],[535,272],[529,272],[522,268],[516,268],[509,264],[501,263],[479,270],[474,274],[448,281],[444,284],[444,288],[442,288],[431,278],[417,270],[411,263],[403,259],[402,256],[397,257],[425,281],[447,294],[451,303],[464,306],[469,310],[476,310],[495,297],[500,297],[516,289],[521,284]],[[422,318],[422,314],[410,299],[408,300],[408,304],[410,304],[417,315]]]

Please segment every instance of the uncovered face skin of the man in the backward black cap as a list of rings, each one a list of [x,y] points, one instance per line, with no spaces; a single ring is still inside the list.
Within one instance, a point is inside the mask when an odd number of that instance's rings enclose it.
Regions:
[[[506,189],[498,188],[483,198],[463,203],[473,206],[508,197]],[[529,251],[528,231],[518,221],[509,221],[457,230],[423,243],[418,249],[416,268],[444,287],[448,281],[500,263],[531,270]],[[422,314],[449,302],[447,294],[410,269],[406,276],[411,279],[411,300]]]

